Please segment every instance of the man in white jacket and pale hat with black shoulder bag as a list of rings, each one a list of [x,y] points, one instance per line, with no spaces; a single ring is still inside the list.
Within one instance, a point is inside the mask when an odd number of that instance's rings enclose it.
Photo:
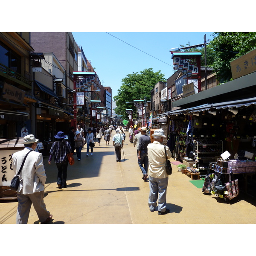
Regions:
[[[17,189],[17,215],[16,224],[27,224],[29,212],[33,204],[41,224],[52,219],[52,214],[44,204],[44,184],[46,175],[43,155],[36,152],[38,139],[33,134],[23,137],[25,148],[12,154],[12,168],[17,175],[24,157],[29,152],[19,175],[20,185]]]

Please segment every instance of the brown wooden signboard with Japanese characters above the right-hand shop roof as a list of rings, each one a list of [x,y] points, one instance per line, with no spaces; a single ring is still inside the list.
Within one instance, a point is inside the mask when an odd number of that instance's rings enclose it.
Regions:
[[[256,49],[231,61],[232,78],[236,79],[256,71]]]

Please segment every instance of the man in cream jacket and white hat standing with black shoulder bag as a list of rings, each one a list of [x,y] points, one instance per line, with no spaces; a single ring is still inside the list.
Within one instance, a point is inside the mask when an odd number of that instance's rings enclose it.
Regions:
[[[168,175],[166,173],[166,155],[167,159],[172,157],[170,149],[166,146],[166,154],[163,145],[163,129],[158,129],[152,134],[154,142],[148,144],[148,174],[149,174],[149,198],[148,206],[151,212],[154,212],[157,206],[158,214],[164,215],[170,212],[166,208],[166,189],[168,186]]]

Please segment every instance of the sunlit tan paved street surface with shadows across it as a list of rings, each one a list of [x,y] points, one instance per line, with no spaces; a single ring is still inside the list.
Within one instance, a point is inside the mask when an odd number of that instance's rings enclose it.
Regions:
[[[113,131],[114,132],[114,131]],[[128,132],[126,132],[128,135]],[[93,155],[68,166],[67,188],[58,189],[57,168],[44,158],[47,173],[44,201],[53,215],[52,224],[256,224],[256,201],[241,193],[224,203],[205,195],[190,177],[177,171],[169,177],[167,208],[157,215],[148,208],[148,182],[142,180],[136,149],[126,136],[122,161],[117,163],[112,145],[96,143]],[[125,161],[123,159],[123,152]],[[76,156],[75,156],[76,157]],[[17,202],[0,202],[0,224],[15,224]],[[38,224],[31,209],[29,224]],[[202,232],[203,233],[203,232]]]

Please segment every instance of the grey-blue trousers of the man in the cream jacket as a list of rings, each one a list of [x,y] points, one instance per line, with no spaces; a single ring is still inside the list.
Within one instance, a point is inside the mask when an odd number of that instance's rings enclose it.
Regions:
[[[148,206],[153,210],[157,206],[158,198],[158,211],[165,212],[166,210],[166,190],[168,186],[169,177],[158,179],[149,176],[149,197]]]

